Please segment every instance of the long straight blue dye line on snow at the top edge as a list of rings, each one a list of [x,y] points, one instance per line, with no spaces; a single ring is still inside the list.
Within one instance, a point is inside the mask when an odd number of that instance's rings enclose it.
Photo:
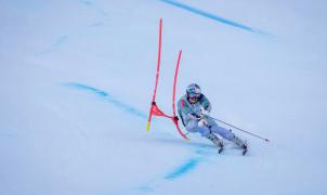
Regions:
[[[196,8],[193,8],[193,6],[189,6],[189,5],[187,5],[187,4],[183,4],[183,3],[176,2],[176,1],[174,1],[174,0],[160,0],[160,1],[162,1],[162,2],[165,2],[165,3],[168,3],[168,4],[171,4],[171,5],[173,5],[173,6],[176,6],[176,8],[183,9],[183,10],[186,10],[186,11],[188,11],[188,12],[195,13],[195,14],[197,14],[197,15],[201,15],[201,16],[204,16],[204,17],[213,20],[213,21],[215,21],[215,22],[223,23],[223,24],[226,24],[226,25],[236,27],[236,28],[240,28],[240,29],[244,29],[244,30],[247,30],[247,31],[251,31],[251,32],[256,32],[256,34],[265,34],[265,32],[263,32],[262,30],[254,29],[254,28],[252,28],[252,27],[249,27],[249,26],[246,26],[246,25],[236,23],[236,22],[234,22],[234,21],[230,21],[230,20],[223,18],[223,17],[221,17],[221,16],[218,16],[218,15],[214,15],[214,14],[212,14],[212,13],[209,13],[209,12],[206,12],[206,11],[202,11],[202,10],[199,10],[199,9],[196,9]]]

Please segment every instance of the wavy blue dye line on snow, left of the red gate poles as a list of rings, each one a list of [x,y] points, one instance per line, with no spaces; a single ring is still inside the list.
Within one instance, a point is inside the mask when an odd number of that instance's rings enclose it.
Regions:
[[[93,94],[96,94],[96,95],[103,98],[104,100],[106,100],[107,102],[109,102],[110,104],[115,105],[116,107],[121,108],[131,115],[138,116],[143,119],[147,118],[146,114],[144,114],[140,109],[115,99],[113,95],[110,95],[109,93],[107,93],[105,91],[102,91],[100,89],[92,88],[92,87],[89,87],[89,86],[86,86],[82,83],[77,83],[77,82],[68,82],[68,83],[64,83],[64,84],[69,88],[84,90],[84,91],[91,92]]]

